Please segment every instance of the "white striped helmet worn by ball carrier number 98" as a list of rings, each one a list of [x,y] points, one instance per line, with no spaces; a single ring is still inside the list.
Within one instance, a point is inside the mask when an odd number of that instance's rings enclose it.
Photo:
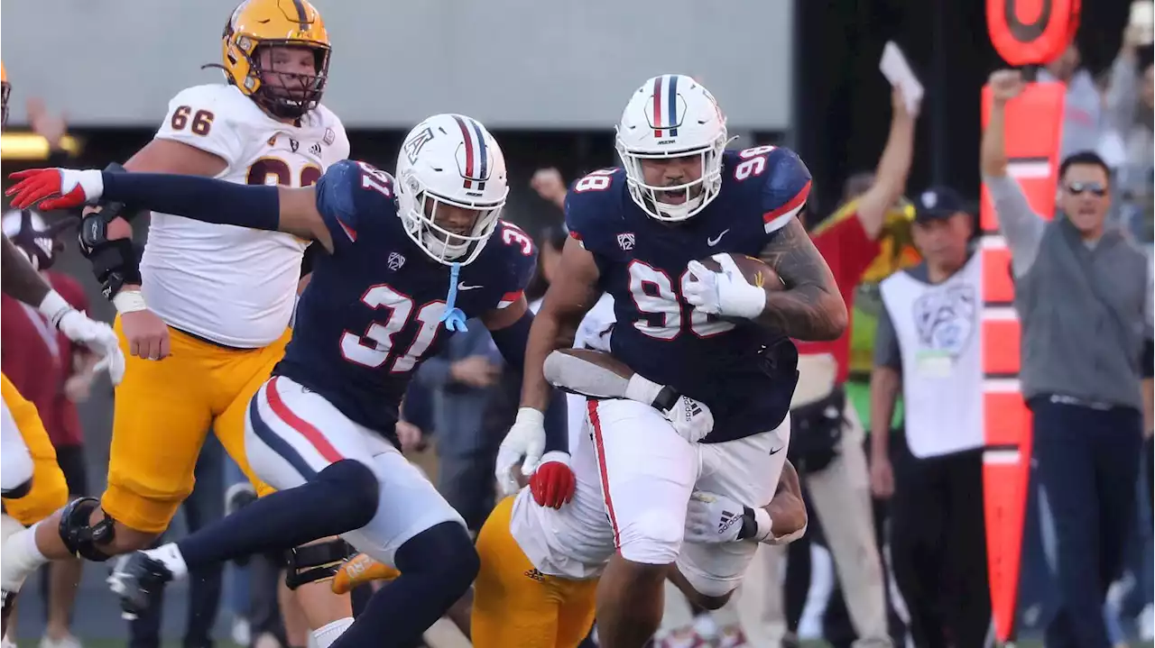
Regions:
[[[629,196],[650,217],[686,220],[702,211],[722,187],[722,152],[728,143],[725,116],[714,96],[681,74],[655,76],[634,92],[617,127],[617,149],[626,169]],[[642,160],[700,156],[701,178],[675,187],[651,186]],[[678,204],[663,203],[660,193],[685,191]]]

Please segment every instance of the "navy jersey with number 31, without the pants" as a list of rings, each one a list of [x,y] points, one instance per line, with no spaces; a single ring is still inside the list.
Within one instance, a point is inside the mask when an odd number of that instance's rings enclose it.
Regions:
[[[274,374],[393,438],[413,371],[454,334],[440,323],[449,268],[409,238],[393,178],[367,164],[330,166],[316,183],[316,209],[334,253],[314,261],[292,340]],[[485,249],[461,268],[456,307],[470,318],[515,303],[536,264],[532,240],[499,223]]]

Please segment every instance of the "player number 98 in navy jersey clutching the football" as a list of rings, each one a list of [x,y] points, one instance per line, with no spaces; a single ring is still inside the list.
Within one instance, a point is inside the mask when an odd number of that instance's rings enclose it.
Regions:
[[[541,444],[551,392],[543,362],[573,342],[602,291],[614,300],[611,353],[713,410],[713,431],[686,439],[643,398],[589,401],[618,545],[598,587],[609,648],[646,643],[668,575],[710,609],[738,586],[757,544],[684,544],[691,493],[770,500],[790,439],[790,338],[835,339],[847,326],[834,278],[796,218],[810,194],[806,166],[789,149],[733,152],[728,142],[721,108],[693,78],[658,76],[633,95],[617,128],[623,166],[582,178],[566,198],[572,239],[530,332],[522,408],[497,467],[500,477]],[[783,286],[750,284],[720,253],[761,258]],[[720,271],[696,261],[706,257]]]

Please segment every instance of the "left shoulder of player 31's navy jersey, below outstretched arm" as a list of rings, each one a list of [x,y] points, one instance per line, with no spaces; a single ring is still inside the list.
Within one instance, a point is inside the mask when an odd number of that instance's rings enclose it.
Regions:
[[[316,211],[335,251],[365,236],[387,235],[397,218],[393,176],[367,163],[341,160],[316,182]]]

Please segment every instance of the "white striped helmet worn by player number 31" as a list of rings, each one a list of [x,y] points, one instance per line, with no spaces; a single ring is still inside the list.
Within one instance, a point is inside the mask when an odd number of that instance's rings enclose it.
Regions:
[[[405,233],[446,265],[477,258],[509,194],[497,140],[480,122],[459,114],[433,115],[409,131],[397,155],[396,180]],[[441,205],[476,210],[472,228],[452,232],[438,224]]]

